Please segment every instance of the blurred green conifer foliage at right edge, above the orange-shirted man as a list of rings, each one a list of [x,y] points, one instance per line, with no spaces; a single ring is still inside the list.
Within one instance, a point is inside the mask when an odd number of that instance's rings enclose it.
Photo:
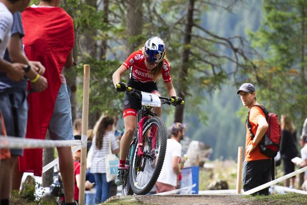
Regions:
[[[248,76],[258,86],[259,95],[270,111],[290,114],[297,127],[307,116],[304,42],[307,38],[305,1],[263,1],[264,22],[249,32],[253,46],[265,58]]]

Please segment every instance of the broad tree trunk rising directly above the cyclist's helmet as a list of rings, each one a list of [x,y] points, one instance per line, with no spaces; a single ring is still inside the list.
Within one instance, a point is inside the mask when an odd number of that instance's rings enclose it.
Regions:
[[[142,44],[139,36],[143,31],[143,0],[127,1],[127,56]]]

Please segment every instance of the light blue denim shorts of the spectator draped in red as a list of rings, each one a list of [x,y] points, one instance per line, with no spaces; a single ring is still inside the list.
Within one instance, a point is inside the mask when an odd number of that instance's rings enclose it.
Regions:
[[[70,104],[70,90],[66,84],[61,84],[55,100],[54,110],[49,123],[50,139],[74,139],[72,106]]]

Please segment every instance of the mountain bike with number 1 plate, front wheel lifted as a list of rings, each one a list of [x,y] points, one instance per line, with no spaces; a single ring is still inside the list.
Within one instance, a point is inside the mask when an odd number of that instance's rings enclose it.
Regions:
[[[120,88],[120,85],[116,85]],[[134,132],[126,158],[122,194],[147,194],[155,185],[164,162],[167,142],[165,122],[152,112],[162,104],[177,106],[175,100],[128,87],[125,91],[141,99]],[[181,102],[181,105],[184,101]]]

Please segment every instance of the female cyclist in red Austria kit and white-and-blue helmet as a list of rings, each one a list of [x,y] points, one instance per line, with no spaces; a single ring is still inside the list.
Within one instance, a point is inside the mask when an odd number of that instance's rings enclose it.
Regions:
[[[162,75],[165,86],[168,90],[168,95],[175,99],[176,104],[180,104],[182,98],[176,95],[173,88],[170,72],[169,62],[165,56],[165,44],[163,40],[158,37],[149,38],[144,47],[138,51],[133,52],[126,61],[114,72],[113,83],[120,84],[121,88],[116,88],[117,91],[126,91],[127,87],[132,87],[137,90],[153,93],[160,96],[157,88],[156,80]],[[130,70],[128,85],[120,82],[121,76]],[[129,145],[133,137],[134,130],[137,128],[137,114],[140,106],[140,99],[125,94],[123,105],[123,118],[125,132],[120,142],[120,158],[119,170],[115,179],[116,185],[120,186],[124,183],[124,169],[126,157],[129,151]],[[155,107],[153,112],[161,116],[161,107]]]

